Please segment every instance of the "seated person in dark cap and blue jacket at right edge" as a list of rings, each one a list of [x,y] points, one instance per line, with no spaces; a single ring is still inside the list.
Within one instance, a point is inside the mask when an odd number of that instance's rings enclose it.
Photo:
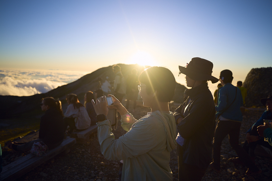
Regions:
[[[258,119],[258,121],[255,122],[254,125],[252,125],[252,127],[248,130],[246,135],[246,142],[243,146],[243,148],[248,152],[252,160],[254,160],[255,158],[254,152],[257,144],[260,144],[272,150],[272,146],[267,141],[264,141],[264,137],[262,137],[263,135],[259,135],[257,132],[257,127],[264,124],[264,119],[272,119],[272,95],[269,95],[267,98],[262,98],[261,103],[266,106],[267,110],[264,111],[260,119]],[[242,164],[240,163],[240,160],[238,160],[238,157],[232,158],[230,160],[232,162]]]

